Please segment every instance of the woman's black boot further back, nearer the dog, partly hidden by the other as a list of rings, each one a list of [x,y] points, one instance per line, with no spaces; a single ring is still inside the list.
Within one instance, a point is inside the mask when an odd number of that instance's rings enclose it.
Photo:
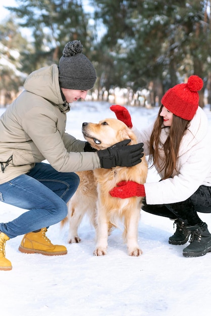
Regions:
[[[177,225],[177,229],[174,235],[169,237],[169,243],[172,245],[184,245],[188,241],[191,232],[184,226],[184,222],[176,220],[175,224]]]

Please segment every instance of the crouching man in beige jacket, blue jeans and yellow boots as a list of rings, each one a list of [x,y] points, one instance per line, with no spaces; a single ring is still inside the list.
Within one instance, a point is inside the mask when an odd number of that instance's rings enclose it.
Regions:
[[[27,210],[9,223],[0,221],[0,270],[12,269],[5,244],[18,235],[25,234],[21,252],[67,253],[65,246],[52,244],[45,233],[67,216],[66,203],[79,185],[74,171],[141,162],[143,144],[126,146],[126,140],[92,152],[89,143],[65,133],[69,103],[85,98],[96,81],[82,48],[78,40],[68,42],[59,67],[32,72],[25,90],[0,118],[0,200]]]

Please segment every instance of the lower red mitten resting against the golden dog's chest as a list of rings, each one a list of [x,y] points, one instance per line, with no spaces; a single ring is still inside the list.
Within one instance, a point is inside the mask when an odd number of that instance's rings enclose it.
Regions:
[[[132,196],[146,196],[144,185],[134,181],[121,181],[110,191],[111,196],[127,198]]]

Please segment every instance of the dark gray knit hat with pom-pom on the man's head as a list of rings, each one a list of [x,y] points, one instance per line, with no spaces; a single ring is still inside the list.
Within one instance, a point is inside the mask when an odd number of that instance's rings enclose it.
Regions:
[[[65,89],[89,90],[96,81],[96,72],[88,58],[81,54],[80,40],[68,42],[59,63],[59,82]]]

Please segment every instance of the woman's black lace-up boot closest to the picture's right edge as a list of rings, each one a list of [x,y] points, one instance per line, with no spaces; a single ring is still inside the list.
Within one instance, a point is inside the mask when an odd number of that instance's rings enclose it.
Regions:
[[[198,257],[211,251],[211,234],[206,223],[189,226],[191,231],[190,245],[183,249],[185,257]]]

